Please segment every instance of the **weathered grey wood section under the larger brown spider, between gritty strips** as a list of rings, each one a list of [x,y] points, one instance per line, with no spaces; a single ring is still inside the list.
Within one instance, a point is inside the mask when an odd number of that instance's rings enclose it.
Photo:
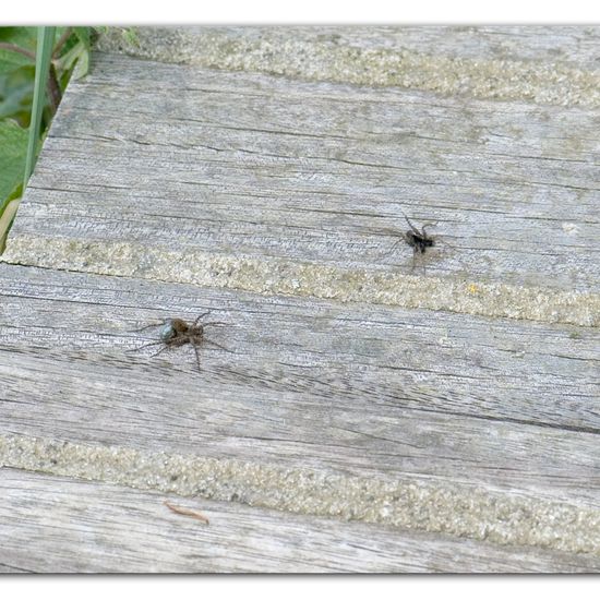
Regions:
[[[598,505],[598,332],[1,265],[7,431]],[[213,310],[191,349],[132,329]],[[335,335],[332,333],[335,332]],[[156,339],[156,338],[154,338]],[[133,420],[132,420],[133,419]]]

